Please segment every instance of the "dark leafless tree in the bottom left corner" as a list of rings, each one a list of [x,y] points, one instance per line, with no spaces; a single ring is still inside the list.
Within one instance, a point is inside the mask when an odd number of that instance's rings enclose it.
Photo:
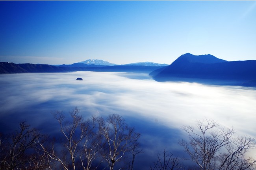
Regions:
[[[21,122],[19,130],[0,141],[3,149],[1,150],[1,168],[5,170],[26,169],[27,166],[40,161],[38,157],[32,155],[36,151],[37,141],[42,136],[35,128],[30,128],[30,125]],[[3,152],[4,156],[2,155]]]

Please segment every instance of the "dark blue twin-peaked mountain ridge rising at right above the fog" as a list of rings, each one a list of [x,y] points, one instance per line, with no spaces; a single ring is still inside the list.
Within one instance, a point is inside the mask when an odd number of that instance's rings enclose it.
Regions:
[[[157,81],[190,78],[236,81],[237,85],[254,86],[256,60],[225,61],[210,54],[195,56],[187,53],[180,56],[171,65],[153,71],[150,75]]]

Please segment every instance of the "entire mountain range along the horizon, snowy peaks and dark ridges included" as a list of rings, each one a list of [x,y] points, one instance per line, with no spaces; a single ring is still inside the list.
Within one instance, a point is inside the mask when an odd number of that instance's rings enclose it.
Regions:
[[[226,61],[210,54],[183,54],[171,65],[152,62],[116,65],[108,61],[91,59],[59,66],[0,62],[0,74],[73,71],[145,72],[156,81],[208,81],[211,84],[256,87],[256,60]]]

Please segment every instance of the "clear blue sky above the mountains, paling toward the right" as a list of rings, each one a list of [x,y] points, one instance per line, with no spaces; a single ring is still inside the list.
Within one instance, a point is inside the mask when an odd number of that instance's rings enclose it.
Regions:
[[[0,61],[256,60],[256,1],[0,1]]]

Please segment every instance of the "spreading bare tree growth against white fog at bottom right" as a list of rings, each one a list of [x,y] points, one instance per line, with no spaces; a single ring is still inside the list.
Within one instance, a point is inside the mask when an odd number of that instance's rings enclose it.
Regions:
[[[232,138],[233,128],[218,127],[219,124],[211,119],[197,121],[196,129],[183,126],[189,139],[179,143],[200,170],[233,170],[245,165],[254,169],[255,161],[245,158],[245,153],[255,147],[254,139],[246,136]]]

